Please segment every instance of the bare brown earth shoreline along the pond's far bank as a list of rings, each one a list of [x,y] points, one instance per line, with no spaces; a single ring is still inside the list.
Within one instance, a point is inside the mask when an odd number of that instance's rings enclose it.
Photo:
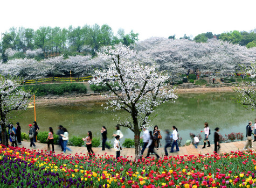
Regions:
[[[221,88],[189,88],[189,89],[176,89],[176,94],[187,93],[213,93],[213,92],[233,92],[231,87]],[[60,98],[36,98],[37,105],[58,105],[58,104],[74,104],[86,102],[105,102],[108,98],[101,95],[90,95],[81,97],[61,96]]]

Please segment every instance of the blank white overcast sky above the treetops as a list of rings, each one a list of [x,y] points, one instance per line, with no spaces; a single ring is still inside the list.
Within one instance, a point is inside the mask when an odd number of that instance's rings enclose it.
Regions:
[[[255,0],[2,0],[0,7],[0,33],[20,26],[37,30],[107,24],[114,34],[123,28],[144,40],[256,28]]]

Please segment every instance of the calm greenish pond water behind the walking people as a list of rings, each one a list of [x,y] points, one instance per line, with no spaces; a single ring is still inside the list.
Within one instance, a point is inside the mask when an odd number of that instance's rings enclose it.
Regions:
[[[216,127],[220,128],[220,134],[225,135],[231,132],[244,133],[248,121],[256,118],[253,111],[248,111],[232,100],[234,93],[197,93],[183,94],[175,103],[164,103],[151,115],[155,117],[150,125],[158,125],[162,130],[178,128],[179,135],[183,138],[183,144],[190,139],[189,133],[199,134],[204,128],[204,122],[208,122],[211,129],[210,141],[213,140],[213,133]],[[92,131],[94,137],[101,137],[100,129],[104,125],[108,129],[108,138],[112,138],[117,125],[117,117],[124,118],[127,112],[112,112],[105,110],[105,102],[86,102],[68,105],[36,106],[37,122],[40,131],[48,131],[53,127],[57,131],[58,125],[67,128],[70,136],[85,137],[88,131]],[[27,109],[15,112],[16,118],[12,119],[13,124],[17,121],[22,126],[22,132],[29,131],[28,124],[32,124],[34,112]],[[19,114],[19,115],[17,115]],[[150,128],[150,130],[153,128]],[[133,138],[133,132],[121,127],[124,138]],[[200,133],[202,136],[203,134]],[[124,140],[124,139],[123,139]],[[163,141],[164,142],[164,141]]]

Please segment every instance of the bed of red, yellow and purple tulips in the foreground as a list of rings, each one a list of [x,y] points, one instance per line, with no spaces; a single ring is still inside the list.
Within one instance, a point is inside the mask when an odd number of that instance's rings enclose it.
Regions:
[[[0,146],[0,187],[255,187],[255,151],[170,156],[55,155]]]

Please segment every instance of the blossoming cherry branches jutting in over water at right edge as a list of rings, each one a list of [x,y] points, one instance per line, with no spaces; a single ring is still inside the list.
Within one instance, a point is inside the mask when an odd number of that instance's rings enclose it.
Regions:
[[[244,67],[243,74],[250,78],[243,79],[242,84],[234,88],[237,92],[237,103],[241,104],[248,110],[256,109],[256,62],[251,66]]]

